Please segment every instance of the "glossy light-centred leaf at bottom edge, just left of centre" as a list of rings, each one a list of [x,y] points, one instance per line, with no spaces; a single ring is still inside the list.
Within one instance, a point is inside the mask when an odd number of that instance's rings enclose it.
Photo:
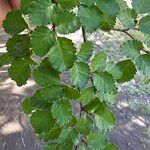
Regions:
[[[61,150],[72,150],[73,145],[79,143],[80,134],[75,128],[64,128],[60,134],[59,142]]]

